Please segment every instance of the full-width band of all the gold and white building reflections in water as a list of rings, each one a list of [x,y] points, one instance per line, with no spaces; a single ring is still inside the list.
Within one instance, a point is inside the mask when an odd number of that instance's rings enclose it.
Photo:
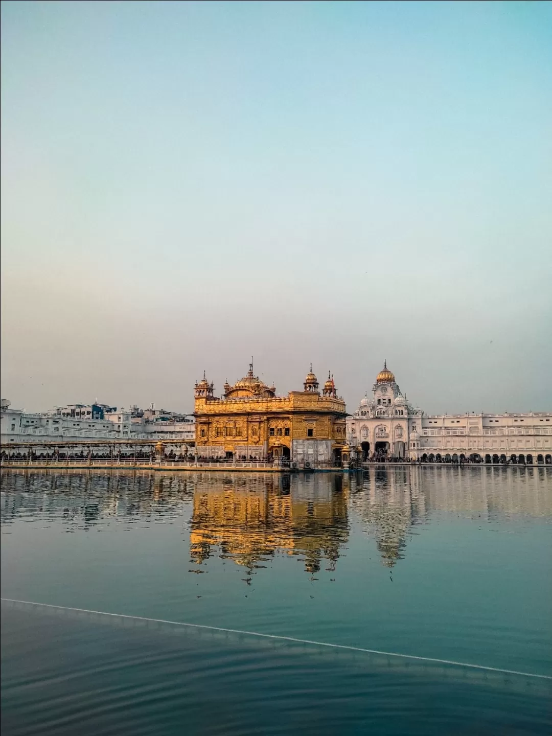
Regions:
[[[349,475],[6,470],[1,523],[47,518],[66,531],[176,523],[189,531],[198,569],[213,556],[254,570],[283,555],[316,573],[336,567],[352,523],[393,567],[410,535],[442,513],[481,522],[552,518],[551,482],[545,467],[388,465]]]

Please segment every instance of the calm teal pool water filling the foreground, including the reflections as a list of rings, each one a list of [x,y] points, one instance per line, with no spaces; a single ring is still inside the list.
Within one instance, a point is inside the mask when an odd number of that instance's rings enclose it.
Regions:
[[[552,675],[552,470],[6,471],[1,595]],[[550,679],[1,604],[7,734],[534,734]]]

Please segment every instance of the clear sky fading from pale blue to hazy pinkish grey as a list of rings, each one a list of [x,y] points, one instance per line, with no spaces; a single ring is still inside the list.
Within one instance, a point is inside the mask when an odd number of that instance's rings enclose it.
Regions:
[[[1,395],[552,409],[552,4],[1,4]]]

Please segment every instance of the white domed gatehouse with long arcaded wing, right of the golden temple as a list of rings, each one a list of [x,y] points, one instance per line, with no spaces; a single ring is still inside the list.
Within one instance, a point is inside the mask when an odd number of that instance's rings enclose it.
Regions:
[[[552,414],[428,416],[403,396],[385,364],[372,397],[347,419],[347,444],[364,461],[552,464]]]

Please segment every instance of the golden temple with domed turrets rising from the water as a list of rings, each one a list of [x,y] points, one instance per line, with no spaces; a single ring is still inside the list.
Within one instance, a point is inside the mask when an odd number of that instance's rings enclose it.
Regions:
[[[253,365],[222,398],[213,383],[195,385],[196,450],[199,457],[285,458],[300,464],[339,462],[345,449],[345,403],[333,377],[319,391],[311,371],[302,391],[277,396],[253,373]]]

